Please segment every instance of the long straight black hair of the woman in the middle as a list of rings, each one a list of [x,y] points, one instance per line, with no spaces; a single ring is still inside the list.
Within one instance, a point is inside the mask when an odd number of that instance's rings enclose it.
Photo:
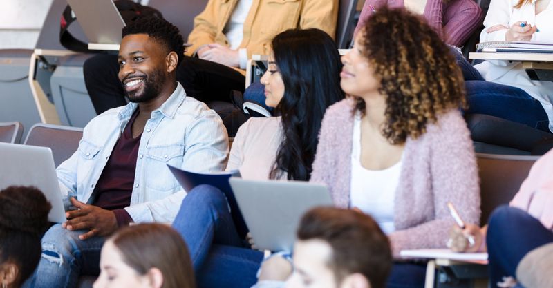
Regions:
[[[292,29],[274,37],[272,51],[285,92],[275,108],[283,141],[269,177],[286,172],[288,180],[307,181],[326,108],[344,99],[338,47],[319,29]]]

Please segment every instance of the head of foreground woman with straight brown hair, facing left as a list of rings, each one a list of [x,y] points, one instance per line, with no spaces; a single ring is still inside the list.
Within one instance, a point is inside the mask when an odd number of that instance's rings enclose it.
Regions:
[[[164,224],[138,224],[115,233],[102,247],[94,288],[194,288],[188,248]]]

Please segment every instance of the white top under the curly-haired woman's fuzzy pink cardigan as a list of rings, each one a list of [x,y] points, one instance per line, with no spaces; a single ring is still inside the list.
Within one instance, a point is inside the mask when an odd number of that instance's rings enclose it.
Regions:
[[[357,207],[371,215],[384,233],[395,231],[393,224],[394,199],[400,182],[402,160],[383,170],[368,170],[361,164],[361,119],[353,122],[351,151],[350,207]]]

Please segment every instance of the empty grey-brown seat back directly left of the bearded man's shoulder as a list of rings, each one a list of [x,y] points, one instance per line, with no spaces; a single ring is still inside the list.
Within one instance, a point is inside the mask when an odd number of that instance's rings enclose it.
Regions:
[[[59,166],[77,151],[81,138],[82,128],[39,123],[30,128],[23,144],[50,148]]]

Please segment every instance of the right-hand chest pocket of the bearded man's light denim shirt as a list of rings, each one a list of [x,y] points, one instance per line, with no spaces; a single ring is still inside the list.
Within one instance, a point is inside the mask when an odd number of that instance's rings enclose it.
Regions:
[[[167,164],[182,166],[184,155],[185,146],[181,143],[146,148],[146,186],[149,189],[172,192],[178,186],[178,182]]]

